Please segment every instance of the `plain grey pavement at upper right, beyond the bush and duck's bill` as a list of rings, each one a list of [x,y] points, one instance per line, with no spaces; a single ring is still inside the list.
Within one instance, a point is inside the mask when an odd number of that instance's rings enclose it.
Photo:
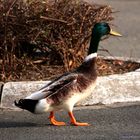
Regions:
[[[111,37],[102,41],[100,46],[109,50],[113,56],[140,58],[140,0],[85,0],[91,3],[110,5],[114,13],[112,27],[123,37]],[[100,52],[102,55],[109,55]]]

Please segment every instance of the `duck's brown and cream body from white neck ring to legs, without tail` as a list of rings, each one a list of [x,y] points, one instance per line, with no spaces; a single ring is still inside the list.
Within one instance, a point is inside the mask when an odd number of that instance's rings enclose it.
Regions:
[[[39,91],[26,97],[26,99],[41,100],[39,104],[44,104],[46,108],[43,110],[34,110],[34,113],[56,111],[65,109],[72,111],[73,106],[89,96],[96,85],[96,57],[86,58],[84,63],[72,72],[66,73],[48,85],[41,88]],[[91,67],[91,65],[93,67]]]

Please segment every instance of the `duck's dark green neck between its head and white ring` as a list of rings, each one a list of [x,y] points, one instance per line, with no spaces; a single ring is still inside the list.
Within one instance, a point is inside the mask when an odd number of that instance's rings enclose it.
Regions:
[[[101,39],[101,37],[98,35],[92,36],[91,41],[90,41],[89,50],[88,50],[88,55],[97,53],[100,39]]]

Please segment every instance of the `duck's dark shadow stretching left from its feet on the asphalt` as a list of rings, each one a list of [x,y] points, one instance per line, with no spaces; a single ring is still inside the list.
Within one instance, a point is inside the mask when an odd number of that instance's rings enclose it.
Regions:
[[[30,122],[0,122],[0,128],[16,128],[16,127],[45,127],[51,124],[37,124]]]

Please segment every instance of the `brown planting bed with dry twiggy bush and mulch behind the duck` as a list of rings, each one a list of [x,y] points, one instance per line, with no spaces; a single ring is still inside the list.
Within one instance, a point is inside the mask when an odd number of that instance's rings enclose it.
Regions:
[[[48,80],[78,67],[91,29],[113,20],[108,5],[77,0],[0,0],[0,81]],[[33,58],[37,51],[45,54]],[[99,76],[140,68],[130,61],[98,59]]]

